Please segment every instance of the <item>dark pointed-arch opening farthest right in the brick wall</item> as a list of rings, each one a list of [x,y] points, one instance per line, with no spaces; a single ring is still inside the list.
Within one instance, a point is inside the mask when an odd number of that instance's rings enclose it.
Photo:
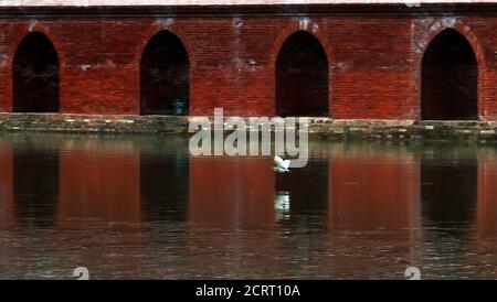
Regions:
[[[478,65],[464,35],[440,32],[422,62],[422,119],[477,119]]]

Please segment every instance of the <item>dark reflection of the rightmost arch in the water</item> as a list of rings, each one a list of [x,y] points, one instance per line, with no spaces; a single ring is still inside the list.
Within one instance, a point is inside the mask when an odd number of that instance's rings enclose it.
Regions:
[[[461,145],[435,144],[423,149],[420,238],[423,244],[436,242],[431,247],[434,254],[457,254],[474,240],[479,194],[476,152],[475,148]],[[442,257],[441,265],[447,265],[447,260],[452,259]]]

